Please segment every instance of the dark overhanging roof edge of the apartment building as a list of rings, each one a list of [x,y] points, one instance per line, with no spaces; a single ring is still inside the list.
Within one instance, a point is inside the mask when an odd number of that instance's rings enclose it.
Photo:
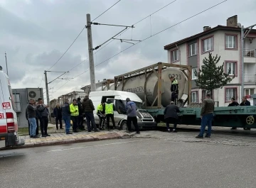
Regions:
[[[169,50],[171,48],[175,48],[176,45],[181,45],[181,44],[186,43],[186,42],[188,42],[190,40],[195,40],[195,39],[197,39],[199,37],[202,37],[203,35],[208,35],[208,34],[213,33],[215,31],[238,31],[239,32],[239,31],[241,31],[241,28],[218,25],[215,28],[208,29],[208,30],[203,31],[201,33],[198,33],[196,35],[192,35],[192,36],[190,36],[188,38],[183,38],[182,40],[178,40],[178,41],[176,41],[174,43],[171,43],[169,45],[165,45],[164,46],[164,50]],[[252,29],[250,32],[251,33],[256,33],[256,29]]]

